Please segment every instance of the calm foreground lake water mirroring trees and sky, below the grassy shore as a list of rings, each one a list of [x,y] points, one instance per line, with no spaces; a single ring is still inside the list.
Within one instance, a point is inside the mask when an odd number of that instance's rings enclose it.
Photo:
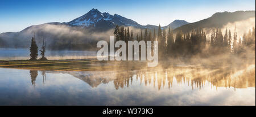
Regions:
[[[0,68],[0,74],[0,105],[255,105],[255,64],[232,72]]]

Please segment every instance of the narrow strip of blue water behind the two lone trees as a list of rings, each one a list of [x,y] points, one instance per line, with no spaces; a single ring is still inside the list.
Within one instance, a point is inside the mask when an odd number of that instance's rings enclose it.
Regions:
[[[0,49],[0,60],[26,60],[30,57],[29,49]],[[38,51],[38,58],[40,58]],[[54,59],[96,58],[96,51],[46,50],[46,57]]]

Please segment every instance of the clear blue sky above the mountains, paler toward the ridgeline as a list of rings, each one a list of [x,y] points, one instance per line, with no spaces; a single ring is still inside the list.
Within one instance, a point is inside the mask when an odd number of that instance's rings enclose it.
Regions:
[[[192,23],[209,18],[215,12],[255,10],[255,0],[1,0],[0,33],[18,32],[30,25],[71,21],[92,8],[125,16],[142,25],[168,25],[175,19]]]

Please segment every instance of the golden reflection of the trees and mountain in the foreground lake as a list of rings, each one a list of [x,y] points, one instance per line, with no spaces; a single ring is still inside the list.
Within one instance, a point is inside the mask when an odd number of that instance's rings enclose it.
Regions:
[[[209,82],[212,88],[218,87],[247,88],[255,87],[255,65],[252,64],[243,70],[234,68],[202,68],[202,67],[171,67],[171,68],[144,68],[131,70],[106,70],[106,71],[42,71],[43,83],[46,81],[46,72],[48,73],[68,73],[85,83],[96,88],[100,84],[108,84],[113,81],[115,89],[123,89],[125,86],[133,85],[133,81],[140,81],[140,85],[151,85],[158,90],[168,85],[172,88],[174,80],[178,85],[187,84],[194,90],[201,90],[206,82]],[[30,71],[32,85],[35,85],[38,71]],[[135,80],[134,80],[135,79]]]

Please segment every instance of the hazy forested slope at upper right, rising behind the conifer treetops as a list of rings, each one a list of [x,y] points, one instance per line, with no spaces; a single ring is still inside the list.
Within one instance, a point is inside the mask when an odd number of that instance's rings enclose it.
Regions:
[[[221,28],[227,23],[233,23],[235,21],[245,20],[252,17],[255,17],[255,11],[217,12],[210,18],[182,25],[181,27],[176,28],[174,32],[189,32],[196,28]]]

